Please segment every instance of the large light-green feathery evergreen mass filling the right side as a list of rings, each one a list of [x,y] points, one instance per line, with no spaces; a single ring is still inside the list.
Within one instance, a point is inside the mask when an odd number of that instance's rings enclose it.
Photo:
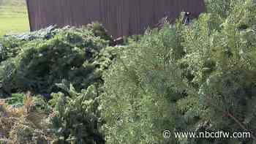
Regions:
[[[102,95],[108,143],[255,143],[162,137],[256,130],[255,2],[210,2],[223,5],[189,26],[147,31],[118,53]]]

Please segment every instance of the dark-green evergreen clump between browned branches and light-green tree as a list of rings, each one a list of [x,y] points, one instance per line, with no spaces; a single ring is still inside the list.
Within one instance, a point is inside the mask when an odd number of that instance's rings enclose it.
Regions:
[[[53,94],[54,113],[52,128],[56,134],[55,143],[105,143],[99,132],[101,127],[99,99],[97,89],[89,86],[80,94],[72,89],[67,91],[72,98],[62,93]]]

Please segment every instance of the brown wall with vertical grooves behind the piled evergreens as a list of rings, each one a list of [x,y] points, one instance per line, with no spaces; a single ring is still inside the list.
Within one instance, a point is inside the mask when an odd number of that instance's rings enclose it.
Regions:
[[[167,16],[199,15],[203,0],[26,0],[31,31],[56,24],[82,26],[99,21],[114,37],[141,34]]]

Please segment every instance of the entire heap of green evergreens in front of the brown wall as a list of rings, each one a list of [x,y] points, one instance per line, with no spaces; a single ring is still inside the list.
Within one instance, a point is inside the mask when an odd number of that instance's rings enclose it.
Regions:
[[[255,2],[208,0],[207,7],[189,26],[180,18],[119,47],[108,47],[112,39],[99,23],[1,39],[1,97],[12,94],[7,103],[26,108],[1,106],[5,115],[24,117],[13,123],[15,142],[47,134],[56,144],[256,143],[253,136],[173,135],[256,131]],[[26,91],[37,96],[22,99]],[[48,94],[49,102],[42,98]],[[49,121],[41,126],[43,118]]]

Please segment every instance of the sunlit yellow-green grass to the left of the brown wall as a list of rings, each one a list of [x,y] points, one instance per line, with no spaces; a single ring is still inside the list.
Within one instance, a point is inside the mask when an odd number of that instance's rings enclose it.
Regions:
[[[0,37],[29,31],[25,0],[0,0]]]

